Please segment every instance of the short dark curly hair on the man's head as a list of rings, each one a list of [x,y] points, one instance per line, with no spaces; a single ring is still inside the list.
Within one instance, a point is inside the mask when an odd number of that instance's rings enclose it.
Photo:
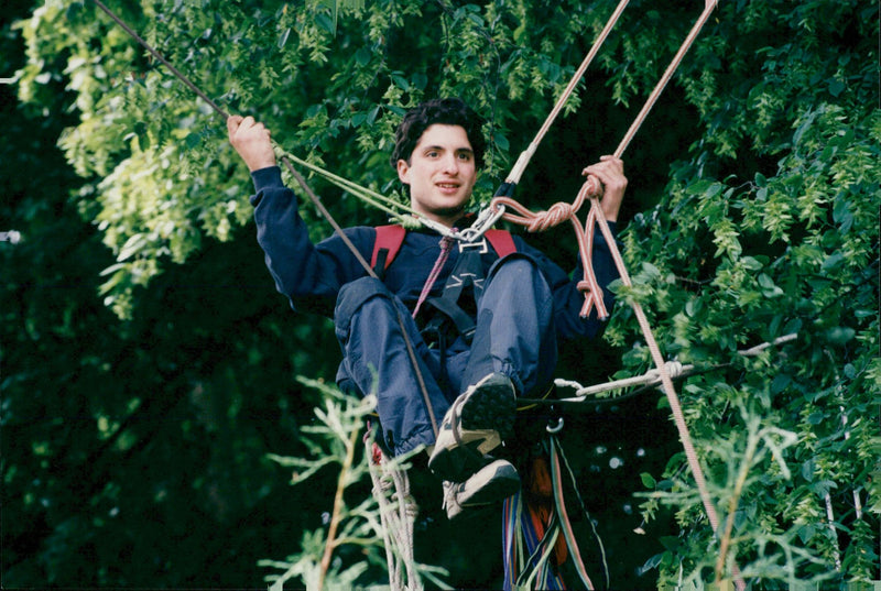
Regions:
[[[464,128],[468,141],[471,143],[471,150],[475,152],[475,164],[478,168],[483,165],[483,152],[487,144],[480,129],[482,120],[465,101],[457,98],[445,98],[427,100],[407,111],[394,132],[394,150],[390,158],[392,168],[398,167],[399,160],[410,162],[410,156],[420,138],[426,129],[435,123]]]

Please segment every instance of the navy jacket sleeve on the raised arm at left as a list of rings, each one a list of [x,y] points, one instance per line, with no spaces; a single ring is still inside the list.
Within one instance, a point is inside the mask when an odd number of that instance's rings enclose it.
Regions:
[[[289,297],[294,309],[333,316],[340,287],[367,272],[338,236],[312,242],[296,196],[284,186],[278,166],[254,171],[251,177],[257,241],[275,288]],[[346,232],[369,260],[376,231],[354,228]]]

